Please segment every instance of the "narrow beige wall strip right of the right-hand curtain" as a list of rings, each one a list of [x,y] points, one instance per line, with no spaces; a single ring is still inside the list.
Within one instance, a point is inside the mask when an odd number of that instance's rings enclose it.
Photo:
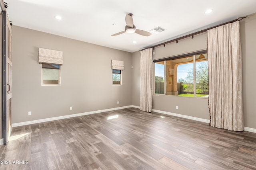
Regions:
[[[256,129],[256,14],[240,21],[244,126]]]

